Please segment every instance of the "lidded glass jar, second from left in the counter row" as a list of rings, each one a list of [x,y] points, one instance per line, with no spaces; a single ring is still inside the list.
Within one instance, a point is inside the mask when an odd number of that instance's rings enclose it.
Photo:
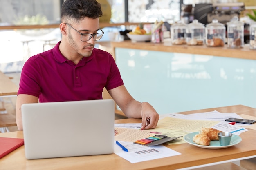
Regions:
[[[188,45],[203,45],[205,40],[204,24],[193,20],[188,24],[186,29],[186,44]]]

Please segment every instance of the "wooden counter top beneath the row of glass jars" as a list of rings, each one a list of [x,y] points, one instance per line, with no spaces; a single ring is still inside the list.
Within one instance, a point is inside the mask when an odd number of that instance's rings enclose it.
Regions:
[[[245,44],[245,46],[240,49],[230,49],[230,48],[227,48],[227,45],[225,45],[224,47],[209,47],[206,45],[202,45],[202,46],[173,45],[171,44],[171,40],[166,40],[163,43],[132,42],[131,40],[125,40],[122,42],[111,42],[111,46],[113,48],[115,47],[130,48],[130,49],[213,55],[213,56],[219,56],[219,57],[233,57],[233,58],[256,60],[256,51],[249,49],[249,44]]]

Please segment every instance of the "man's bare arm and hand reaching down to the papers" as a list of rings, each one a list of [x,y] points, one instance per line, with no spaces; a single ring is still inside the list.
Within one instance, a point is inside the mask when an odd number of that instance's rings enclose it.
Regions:
[[[142,118],[141,129],[150,129],[157,126],[159,115],[148,102],[136,101],[127,91],[124,85],[108,90],[128,118]],[[147,121],[148,120],[148,121]]]

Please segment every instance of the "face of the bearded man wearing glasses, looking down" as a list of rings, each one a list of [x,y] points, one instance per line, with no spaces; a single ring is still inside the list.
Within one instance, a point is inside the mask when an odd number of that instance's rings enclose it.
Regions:
[[[72,28],[72,27],[73,28]],[[68,26],[68,43],[70,46],[78,53],[79,55],[82,55],[84,57],[89,57],[92,54],[92,50],[94,49],[95,45],[95,40],[92,37],[88,41],[81,41],[81,34],[79,34],[77,31],[80,33],[99,33],[101,32],[99,30],[99,18],[92,19],[92,18],[84,18],[81,20],[78,24],[70,24]],[[74,30],[76,29],[76,30]]]

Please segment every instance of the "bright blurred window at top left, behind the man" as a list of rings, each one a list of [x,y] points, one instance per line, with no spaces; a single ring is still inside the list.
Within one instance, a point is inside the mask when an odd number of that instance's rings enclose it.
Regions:
[[[56,24],[60,0],[0,0],[0,26]]]

